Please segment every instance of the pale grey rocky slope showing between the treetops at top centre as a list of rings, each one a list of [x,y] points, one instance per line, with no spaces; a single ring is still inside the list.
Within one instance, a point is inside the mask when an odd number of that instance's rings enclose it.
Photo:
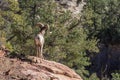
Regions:
[[[64,10],[69,10],[73,17],[78,17],[83,10],[84,5],[86,5],[84,0],[55,0],[58,4],[63,6]]]

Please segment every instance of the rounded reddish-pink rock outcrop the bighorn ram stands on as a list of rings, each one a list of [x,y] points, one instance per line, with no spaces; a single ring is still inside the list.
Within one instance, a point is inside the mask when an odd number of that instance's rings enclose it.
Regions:
[[[37,62],[34,62],[34,59]],[[54,61],[0,58],[0,80],[82,80],[72,69]]]

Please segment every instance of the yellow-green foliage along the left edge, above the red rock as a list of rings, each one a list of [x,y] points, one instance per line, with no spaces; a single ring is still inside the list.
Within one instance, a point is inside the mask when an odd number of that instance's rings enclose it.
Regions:
[[[7,39],[13,35],[13,29],[15,29],[14,26],[18,27],[18,25],[22,24],[22,16],[16,14],[16,12],[19,11],[19,5],[17,1],[5,0],[4,3],[6,6],[3,5],[3,7],[0,8],[0,32],[1,37],[4,38],[4,40],[1,42],[6,45],[10,51],[12,51],[12,42],[8,42]]]

